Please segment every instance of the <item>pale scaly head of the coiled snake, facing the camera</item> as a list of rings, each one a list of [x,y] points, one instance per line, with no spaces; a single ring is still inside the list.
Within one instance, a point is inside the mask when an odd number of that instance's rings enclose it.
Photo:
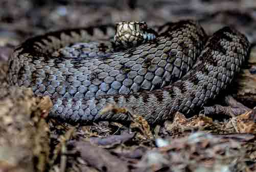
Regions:
[[[126,48],[154,40],[157,33],[145,21],[121,21],[115,24],[115,44]]]

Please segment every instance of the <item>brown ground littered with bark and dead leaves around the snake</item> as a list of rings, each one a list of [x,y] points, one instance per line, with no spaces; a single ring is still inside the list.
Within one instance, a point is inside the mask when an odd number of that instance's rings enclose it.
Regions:
[[[230,26],[252,44],[248,64],[227,95],[192,118],[177,113],[156,126],[142,118],[66,124],[46,117],[47,98],[0,89],[0,171],[256,171],[256,1],[1,0],[0,9],[1,81],[15,46],[65,28],[194,19],[208,35]],[[5,99],[14,95],[19,101]]]

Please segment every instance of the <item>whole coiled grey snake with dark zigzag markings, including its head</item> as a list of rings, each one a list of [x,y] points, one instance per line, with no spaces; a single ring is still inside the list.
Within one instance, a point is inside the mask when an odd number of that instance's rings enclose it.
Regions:
[[[176,112],[193,116],[227,90],[249,47],[236,29],[207,36],[193,20],[157,31],[143,21],[60,30],[16,47],[8,82],[49,95],[50,116],[60,120],[126,122],[130,115],[117,110],[125,108],[157,124]]]

